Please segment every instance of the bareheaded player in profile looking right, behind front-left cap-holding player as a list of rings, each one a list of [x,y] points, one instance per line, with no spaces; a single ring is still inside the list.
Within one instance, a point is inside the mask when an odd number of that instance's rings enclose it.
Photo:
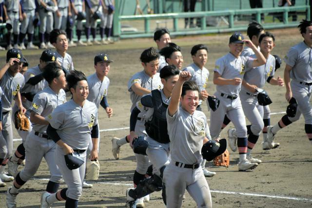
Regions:
[[[49,86],[36,94],[30,107],[30,121],[33,128],[25,142],[26,163],[24,169],[15,177],[13,186],[7,190],[6,205],[8,208],[16,207],[16,197],[20,188],[36,174],[43,157],[51,174],[46,192],[57,192],[62,179],[54,160],[56,144],[46,134],[49,122],[45,120],[45,117],[50,115],[58,105],[66,102],[66,94],[63,90],[66,87],[66,79],[62,68],[56,62],[46,65],[42,76]]]

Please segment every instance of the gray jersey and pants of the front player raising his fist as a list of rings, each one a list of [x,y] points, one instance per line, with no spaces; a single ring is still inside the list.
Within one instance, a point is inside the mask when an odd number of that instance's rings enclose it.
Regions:
[[[166,112],[170,138],[170,165],[164,170],[167,208],[181,207],[185,189],[197,207],[212,207],[210,188],[200,167],[204,137],[210,138],[207,118],[201,111],[192,115],[180,107],[171,117]],[[186,165],[194,165],[186,168]]]

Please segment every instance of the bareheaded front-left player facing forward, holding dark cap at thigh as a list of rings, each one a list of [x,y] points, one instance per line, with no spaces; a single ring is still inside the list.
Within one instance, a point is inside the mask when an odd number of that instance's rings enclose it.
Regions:
[[[67,188],[41,195],[41,207],[66,200],[65,208],[77,208],[85,176],[86,150],[92,138],[91,160],[98,159],[98,108],[87,100],[89,88],[87,78],[81,71],[73,70],[66,76],[67,86],[73,99],[59,105],[47,116],[47,134],[57,143],[55,163],[62,173]],[[65,155],[78,156],[83,164],[76,169],[66,166]]]

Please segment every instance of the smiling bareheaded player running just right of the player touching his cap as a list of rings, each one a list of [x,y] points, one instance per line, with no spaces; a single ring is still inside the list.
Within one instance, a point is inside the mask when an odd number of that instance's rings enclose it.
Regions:
[[[271,55],[271,51],[275,46],[275,37],[270,32],[265,32],[259,37],[259,46],[260,52],[267,59],[267,62],[264,65],[256,67],[254,70],[246,70],[244,74],[243,84],[241,91],[239,92],[239,97],[241,100],[242,108],[244,114],[247,119],[250,121],[251,125],[247,125],[247,134],[248,142],[247,142],[247,160],[251,163],[260,164],[261,160],[253,158],[251,156],[251,151],[254,148],[259,135],[263,129],[264,121],[263,121],[263,107],[258,104],[257,101],[257,89],[263,88],[266,82],[272,85],[284,86],[284,80],[278,77],[275,79],[274,71],[275,71],[275,57]],[[256,58],[255,55],[251,56],[252,58]],[[231,137],[230,146],[231,148],[236,148],[236,130],[229,130]]]

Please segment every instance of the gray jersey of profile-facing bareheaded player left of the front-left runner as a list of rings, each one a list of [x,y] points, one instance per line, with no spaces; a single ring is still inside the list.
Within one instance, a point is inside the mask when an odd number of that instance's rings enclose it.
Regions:
[[[40,91],[35,95],[33,104],[30,107],[31,111],[34,111],[42,117],[46,117],[52,113],[52,111],[60,104],[66,102],[66,94],[63,89],[59,90],[57,94],[51,89],[50,86]],[[47,125],[32,124],[33,130],[40,133],[46,133]]]

